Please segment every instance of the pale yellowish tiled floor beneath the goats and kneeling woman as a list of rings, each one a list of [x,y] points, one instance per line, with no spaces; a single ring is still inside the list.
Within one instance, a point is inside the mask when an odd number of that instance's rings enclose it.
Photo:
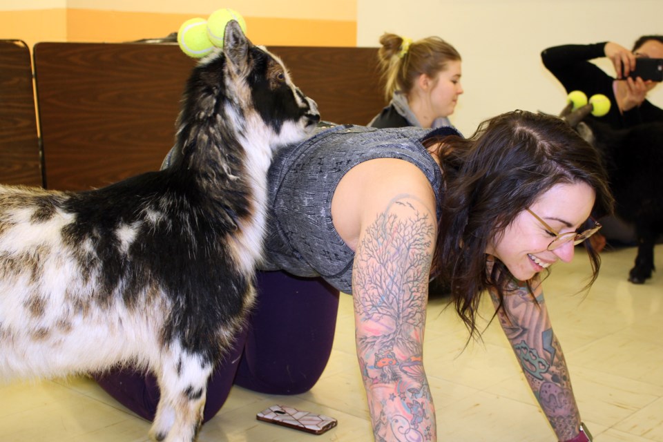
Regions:
[[[556,265],[544,285],[583,419],[599,442],[663,442],[663,272],[631,285],[626,273],[634,258],[633,248],[603,253],[587,296],[573,294],[589,271],[581,255]],[[663,245],[655,259],[663,267]],[[461,351],[465,329],[444,307],[443,300],[430,302],[425,343],[439,440],[555,441],[497,323],[483,344]],[[488,303],[483,307],[488,316]],[[337,327],[332,360],[313,390],[267,396],[236,387],[200,441],[371,440],[347,295]],[[334,416],[338,427],[313,436],[256,421],[256,412],[275,403]],[[2,442],[148,441],[148,428],[84,377],[0,386]]]

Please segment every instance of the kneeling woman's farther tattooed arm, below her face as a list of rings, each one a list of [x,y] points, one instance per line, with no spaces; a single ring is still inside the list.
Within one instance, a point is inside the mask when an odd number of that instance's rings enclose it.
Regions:
[[[580,414],[538,276],[532,290],[534,296],[524,283],[510,283],[497,317],[557,439],[566,441],[577,436]],[[497,307],[497,294],[490,296]]]

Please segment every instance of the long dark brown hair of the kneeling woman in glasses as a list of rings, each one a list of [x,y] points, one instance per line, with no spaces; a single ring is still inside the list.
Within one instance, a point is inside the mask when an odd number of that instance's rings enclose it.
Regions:
[[[499,261],[487,273],[489,241],[556,184],[588,184],[596,193],[595,216],[612,212],[613,196],[595,148],[557,117],[499,115],[469,139],[445,137],[439,155],[445,185],[433,269],[450,282],[454,306],[474,334],[481,293],[494,288],[502,299],[512,278]],[[600,258],[589,241],[584,245],[593,268],[589,286]]]

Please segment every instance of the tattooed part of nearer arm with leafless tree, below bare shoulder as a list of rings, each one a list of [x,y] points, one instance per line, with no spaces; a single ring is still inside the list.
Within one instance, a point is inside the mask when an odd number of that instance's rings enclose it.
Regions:
[[[422,359],[435,225],[416,206],[401,198],[378,215],[354,262],[357,352],[377,441],[436,438]]]

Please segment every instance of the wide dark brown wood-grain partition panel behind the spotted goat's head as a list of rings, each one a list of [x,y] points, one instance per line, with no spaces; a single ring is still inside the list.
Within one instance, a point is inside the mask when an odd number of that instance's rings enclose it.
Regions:
[[[367,124],[385,105],[376,48],[269,50],[327,121]],[[164,43],[39,43],[34,52],[48,189],[90,189],[160,167],[195,59]]]

